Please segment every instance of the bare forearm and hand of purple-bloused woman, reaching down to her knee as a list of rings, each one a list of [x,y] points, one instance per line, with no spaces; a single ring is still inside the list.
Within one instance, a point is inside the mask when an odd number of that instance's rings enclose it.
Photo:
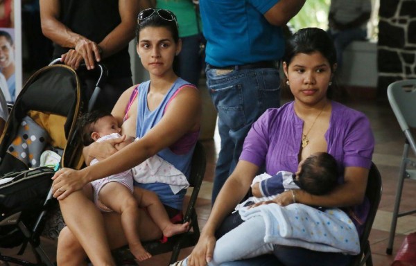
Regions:
[[[200,239],[188,259],[188,265],[206,265],[214,253],[216,238],[214,233],[241,199],[247,194],[259,167],[248,161],[239,161],[234,172],[221,188],[212,207],[207,224],[201,231]]]

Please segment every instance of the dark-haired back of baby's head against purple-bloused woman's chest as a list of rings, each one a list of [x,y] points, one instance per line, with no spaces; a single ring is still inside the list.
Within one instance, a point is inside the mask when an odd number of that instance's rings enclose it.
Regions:
[[[296,173],[297,186],[312,195],[329,193],[338,184],[336,159],[327,152],[316,152],[300,163]]]

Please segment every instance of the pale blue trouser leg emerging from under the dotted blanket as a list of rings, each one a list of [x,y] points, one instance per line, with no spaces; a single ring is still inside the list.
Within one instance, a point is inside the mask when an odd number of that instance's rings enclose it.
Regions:
[[[272,253],[273,245],[264,242],[265,235],[266,224],[261,216],[243,222],[217,240],[209,265]]]

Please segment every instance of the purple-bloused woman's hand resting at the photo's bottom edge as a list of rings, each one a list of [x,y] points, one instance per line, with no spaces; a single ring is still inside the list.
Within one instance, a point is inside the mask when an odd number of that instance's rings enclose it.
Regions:
[[[213,235],[200,236],[198,243],[188,257],[189,266],[206,266],[212,260],[216,238]]]

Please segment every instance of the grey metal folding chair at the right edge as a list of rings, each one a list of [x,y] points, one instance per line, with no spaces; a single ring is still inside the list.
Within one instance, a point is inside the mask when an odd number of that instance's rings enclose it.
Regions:
[[[408,166],[416,167],[416,161],[413,161],[408,157],[409,147],[416,154],[416,142],[413,138],[413,134],[410,129],[416,128],[416,80],[400,80],[393,82],[387,89],[388,100],[390,106],[395,113],[397,121],[401,127],[401,130],[406,136],[403,150],[403,157],[401,159],[399,179],[397,180],[397,191],[395,199],[395,209],[392,215],[392,223],[390,227],[390,238],[388,241],[388,247],[386,249],[387,254],[392,254],[393,241],[395,240],[397,219],[406,215],[416,213],[416,209],[399,212],[401,192],[404,186],[404,179],[410,178],[410,171],[407,170]]]

